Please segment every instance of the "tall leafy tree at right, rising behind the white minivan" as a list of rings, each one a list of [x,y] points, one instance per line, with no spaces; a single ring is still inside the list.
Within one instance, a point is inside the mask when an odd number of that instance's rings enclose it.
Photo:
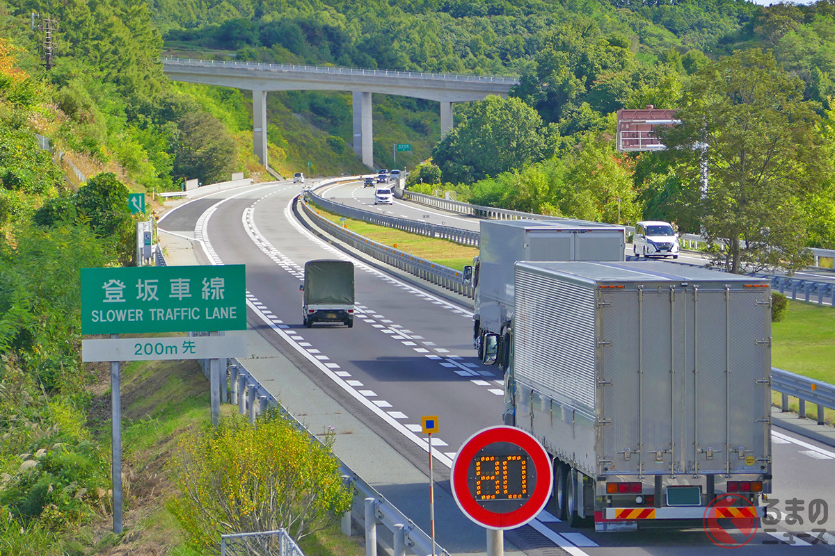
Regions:
[[[712,264],[747,273],[807,262],[799,199],[821,188],[828,166],[815,108],[802,82],[759,49],[721,58],[693,79],[676,113],[681,125],[660,134],[696,190],[707,145],[700,213]]]

